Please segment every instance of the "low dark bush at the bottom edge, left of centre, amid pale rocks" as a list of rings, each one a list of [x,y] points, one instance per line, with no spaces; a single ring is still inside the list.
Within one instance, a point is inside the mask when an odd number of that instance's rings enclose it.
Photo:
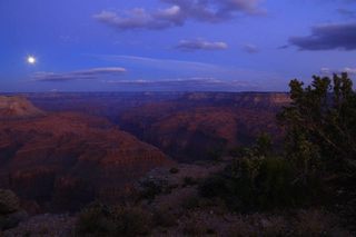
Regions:
[[[138,236],[150,227],[151,216],[140,208],[91,204],[80,213],[76,230],[79,236]]]

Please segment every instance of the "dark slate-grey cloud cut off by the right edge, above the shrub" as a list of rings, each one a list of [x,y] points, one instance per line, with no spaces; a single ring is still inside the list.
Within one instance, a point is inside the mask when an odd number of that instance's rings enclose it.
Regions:
[[[300,50],[355,50],[356,22],[313,27],[310,36],[291,37],[289,43]]]

